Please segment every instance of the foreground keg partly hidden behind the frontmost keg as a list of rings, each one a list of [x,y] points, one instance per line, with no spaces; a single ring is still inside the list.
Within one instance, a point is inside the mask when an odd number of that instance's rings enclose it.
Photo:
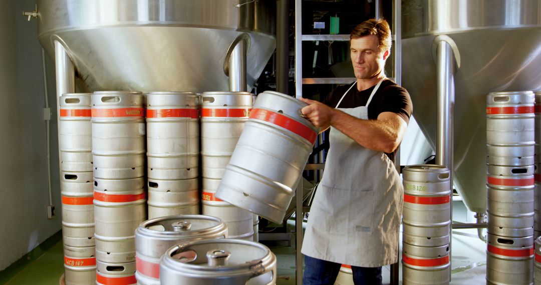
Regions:
[[[227,238],[227,226],[205,215],[175,215],[144,221],[135,230],[138,284],[160,285],[160,257],[189,240]]]

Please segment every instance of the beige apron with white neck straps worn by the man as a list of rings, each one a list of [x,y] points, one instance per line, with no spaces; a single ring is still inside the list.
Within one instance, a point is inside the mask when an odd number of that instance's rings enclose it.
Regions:
[[[368,104],[338,110],[367,120]],[[398,261],[403,187],[383,152],[362,147],[331,127],[325,172],[315,193],[302,254],[342,264],[378,267]]]

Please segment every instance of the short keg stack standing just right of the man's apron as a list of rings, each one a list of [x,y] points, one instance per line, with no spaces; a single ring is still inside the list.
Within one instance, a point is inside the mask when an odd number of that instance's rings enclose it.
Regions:
[[[449,284],[450,172],[439,165],[403,170],[404,284]]]

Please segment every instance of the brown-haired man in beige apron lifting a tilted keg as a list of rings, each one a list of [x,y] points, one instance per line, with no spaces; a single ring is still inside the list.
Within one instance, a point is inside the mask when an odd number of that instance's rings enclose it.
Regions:
[[[301,99],[304,116],[331,127],[325,172],[308,218],[304,284],[334,284],[341,264],[355,284],[381,284],[381,266],[398,260],[403,187],[393,159],[411,116],[409,94],[384,73],[391,49],[385,20],[351,32],[357,81],[323,103]]]

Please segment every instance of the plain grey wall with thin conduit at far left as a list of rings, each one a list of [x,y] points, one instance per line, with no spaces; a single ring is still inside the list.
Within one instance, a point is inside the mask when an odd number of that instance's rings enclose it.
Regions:
[[[51,121],[52,198],[45,158],[44,89],[35,0],[0,0],[0,270],[61,229],[54,64],[47,57]]]

